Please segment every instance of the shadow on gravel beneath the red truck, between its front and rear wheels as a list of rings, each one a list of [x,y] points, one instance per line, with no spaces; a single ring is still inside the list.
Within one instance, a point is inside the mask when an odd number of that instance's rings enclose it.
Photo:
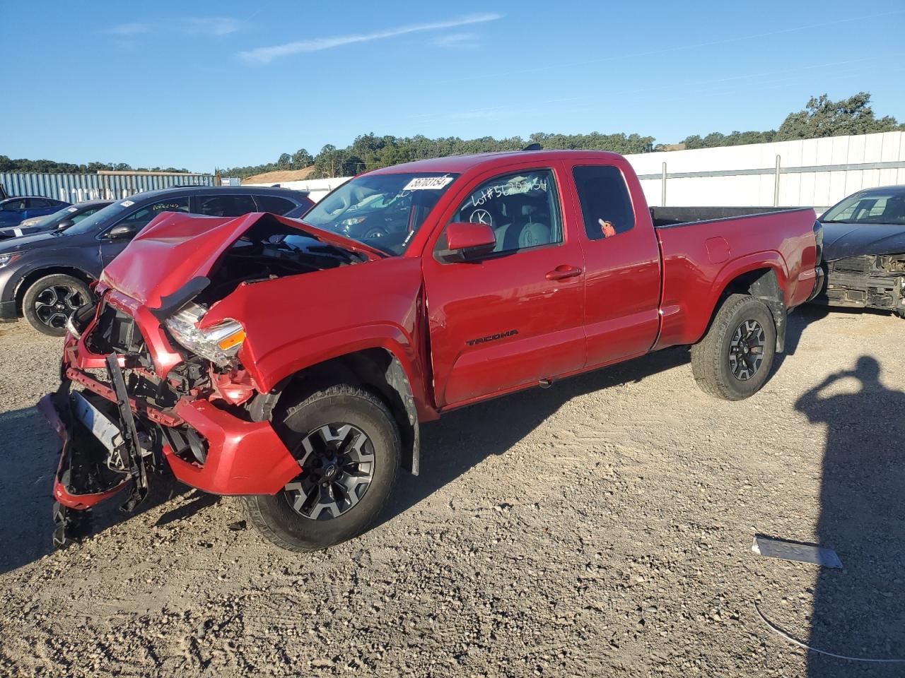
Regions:
[[[568,400],[623,383],[638,382],[689,362],[684,347],[651,353],[595,372],[450,412],[421,429],[421,475],[400,474],[378,524],[430,496],[483,459],[505,454]]]

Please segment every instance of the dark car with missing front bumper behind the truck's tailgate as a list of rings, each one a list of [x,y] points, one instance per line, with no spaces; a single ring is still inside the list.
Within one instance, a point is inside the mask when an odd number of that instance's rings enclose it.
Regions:
[[[905,186],[853,193],[819,221],[826,284],[814,301],[905,317]]]

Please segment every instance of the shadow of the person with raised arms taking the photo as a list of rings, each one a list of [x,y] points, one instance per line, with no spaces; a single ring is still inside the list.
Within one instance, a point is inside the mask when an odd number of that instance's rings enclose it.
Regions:
[[[808,645],[905,658],[905,393],[879,377],[880,364],[864,355],[795,403],[827,427],[817,536],[843,562],[843,570],[819,570]],[[834,385],[843,392],[826,394]],[[812,678],[902,674],[905,664],[808,653]]]

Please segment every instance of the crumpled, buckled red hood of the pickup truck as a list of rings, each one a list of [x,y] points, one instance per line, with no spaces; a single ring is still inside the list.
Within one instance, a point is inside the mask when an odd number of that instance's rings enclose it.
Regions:
[[[367,245],[267,212],[234,218],[164,212],[104,268],[100,280],[144,306],[158,308],[161,297],[173,294],[192,278],[206,276],[224,250],[263,218],[276,219],[371,259],[380,256]]]

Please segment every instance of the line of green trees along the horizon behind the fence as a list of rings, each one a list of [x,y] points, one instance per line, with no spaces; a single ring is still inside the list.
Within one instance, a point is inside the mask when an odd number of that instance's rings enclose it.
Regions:
[[[338,148],[328,144],[320,149],[317,155],[311,155],[305,148],[295,153],[282,153],[273,163],[262,165],[245,165],[236,167],[214,168],[214,174],[224,176],[248,177],[253,174],[274,172],[278,170],[303,169],[311,167],[312,179],[331,176],[350,176],[367,170],[389,165],[398,165],[412,160],[441,157],[443,155],[462,155],[469,153],[485,153],[488,151],[519,150],[529,144],[539,144],[543,148],[565,148],[578,150],[614,151],[616,153],[634,154],[649,153],[658,150],[676,148],[712,148],[715,146],[738,146],[740,144],[761,144],[769,141],[788,141],[791,139],[813,139],[819,137],[838,137],[841,135],[871,134],[872,132],[890,132],[905,129],[896,118],[884,116],[877,118],[870,105],[869,92],[858,92],[848,99],[834,101],[826,94],[812,97],[805,108],[789,113],[777,129],[748,132],[711,132],[701,137],[691,135],[685,137],[679,145],[654,145],[653,137],[639,134],[548,134],[536,132],[528,138],[480,137],[462,139],[460,137],[441,137],[431,139],[423,135],[414,137],[394,137],[392,135],[376,136],[370,134],[356,137],[349,146]],[[58,163],[52,160],[12,160],[0,155],[0,172],[97,172],[114,170],[129,172],[130,170],[152,172],[186,172],[175,167],[136,167],[125,163],[88,163],[73,165]]]

